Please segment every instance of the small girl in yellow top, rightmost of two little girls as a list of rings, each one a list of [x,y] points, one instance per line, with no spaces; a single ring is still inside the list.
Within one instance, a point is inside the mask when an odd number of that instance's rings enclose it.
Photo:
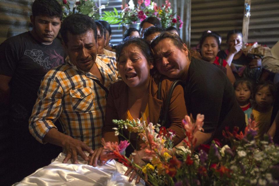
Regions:
[[[272,113],[272,105],[274,102],[275,91],[272,83],[259,83],[255,91],[255,107],[252,109],[252,114],[257,124],[258,134],[256,138],[262,138],[267,133],[270,126]]]

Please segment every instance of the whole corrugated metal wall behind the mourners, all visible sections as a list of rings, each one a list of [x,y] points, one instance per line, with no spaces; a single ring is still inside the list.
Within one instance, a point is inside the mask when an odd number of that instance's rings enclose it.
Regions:
[[[34,0],[1,0],[0,1],[0,43],[8,37],[31,29],[31,4]],[[100,0],[106,4],[107,0]],[[127,0],[128,1],[128,0]],[[191,47],[198,44],[201,33],[205,30],[216,31],[222,36],[222,48],[226,48],[226,35],[229,30],[242,30],[244,0],[170,0],[174,12],[183,17],[184,26],[180,36],[185,43],[191,35]],[[164,0],[155,0],[162,5]],[[122,0],[109,0],[109,6],[104,9],[121,11]],[[191,11],[191,22],[187,12]],[[187,24],[188,22],[188,24]],[[191,26],[189,33],[188,26]],[[122,26],[112,25],[112,44],[122,39]],[[279,0],[251,0],[251,17],[248,42],[257,41],[272,47],[279,40]]]

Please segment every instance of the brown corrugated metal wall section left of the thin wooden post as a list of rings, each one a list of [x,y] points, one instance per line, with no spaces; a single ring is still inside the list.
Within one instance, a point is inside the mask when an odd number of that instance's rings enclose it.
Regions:
[[[228,31],[242,30],[243,10],[244,0],[192,0],[191,47],[196,47],[203,31],[210,30],[222,36],[225,48]]]

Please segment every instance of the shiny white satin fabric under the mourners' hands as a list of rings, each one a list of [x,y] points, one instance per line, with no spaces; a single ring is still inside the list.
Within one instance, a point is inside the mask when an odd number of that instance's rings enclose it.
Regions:
[[[88,155],[88,153],[87,153]],[[78,157],[79,164],[62,163],[65,158],[64,153],[60,153],[56,159],[48,166],[42,167],[33,174],[24,178],[21,182],[15,183],[21,185],[39,185],[39,186],[56,186],[56,185],[108,185],[108,186],[130,186],[135,185],[135,179],[129,183],[129,177],[124,176],[127,167],[123,164],[111,160],[103,166],[92,167],[87,164],[81,157]],[[22,170],[24,171],[24,170]],[[145,185],[144,181],[137,185]]]

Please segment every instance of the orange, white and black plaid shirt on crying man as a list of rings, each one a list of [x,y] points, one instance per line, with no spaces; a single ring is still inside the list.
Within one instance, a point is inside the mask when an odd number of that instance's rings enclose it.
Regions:
[[[106,88],[116,81],[115,58],[97,55],[95,60]],[[101,147],[105,119],[105,91],[90,72],[78,70],[71,62],[59,65],[44,76],[29,119],[30,133],[41,143],[59,119],[64,134],[83,141],[92,149]],[[99,81],[99,80],[98,80]]]

